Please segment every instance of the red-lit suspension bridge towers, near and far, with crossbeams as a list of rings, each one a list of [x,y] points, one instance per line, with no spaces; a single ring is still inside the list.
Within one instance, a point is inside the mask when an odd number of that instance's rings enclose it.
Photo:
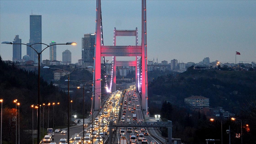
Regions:
[[[101,79],[101,57],[114,57],[114,67],[120,65],[136,65],[137,66],[137,57],[141,57],[141,95],[142,95],[142,109],[148,111],[148,74],[147,74],[147,26],[146,26],[146,0],[142,0],[142,10],[141,10],[141,46],[138,46],[136,30],[131,30],[130,33],[127,31],[115,31],[116,36],[136,36],[136,45],[135,46],[116,46],[115,41],[113,46],[103,46],[101,41],[101,2],[97,0],[96,2],[96,31],[95,31],[95,57],[94,57],[94,80]],[[135,35],[134,35],[135,32]],[[118,35],[119,33],[119,35]],[[115,38],[115,36],[114,36]],[[115,57],[136,57],[135,61],[124,62],[124,61],[115,61]],[[125,64],[126,63],[126,64]],[[136,68],[137,70],[137,68]],[[136,71],[140,72],[140,71]],[[116,75],[113,73],[113,83],[115,90],[115,79]],[[137,76],[137,73],[136,73]],[[100,81],[93,81],[95,86],[94,93],[101,92]],[[140,81],[137,81],[139,83]],[[138,84],[136,84],[138,86]],[[95,95],[95,110],[100,109],[100,96]]]

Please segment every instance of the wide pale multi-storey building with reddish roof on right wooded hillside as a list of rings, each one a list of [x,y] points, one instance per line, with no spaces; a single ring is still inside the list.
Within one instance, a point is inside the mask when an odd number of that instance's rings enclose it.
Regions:
[[[207,97],[191,96],[185,98],[185,103],[190,106],[191,109],[209,108],[210,100]]]

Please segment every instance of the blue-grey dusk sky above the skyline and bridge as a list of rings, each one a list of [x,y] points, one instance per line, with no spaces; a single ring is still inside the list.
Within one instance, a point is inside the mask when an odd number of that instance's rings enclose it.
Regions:
[[[148,60],[177,59],[198,63],[209,57],[222,63],[256,62],[256,1],[160,1],[148,0]],[[113,29],[139,31],[141,45],[141,1],[101,1],[104,45],[113,45]],[[29,42],[29,15],[42,15],[42,43],[77,42],[57,45],[72,52],[72,63],[81,59],[84,34],[95,33],[96,1],[14,1],[0,0],[0,42],[19,35]],[[135,37],[117,37],[116,45],[135,45]],[[42,49],[44,46],[42,46]],[[0,44],[3,60],[12,60],[12,45]],[[26,46],[22,46],[22,57]],[[49,48],[42,60],[49,60]],[[110,58],[107,58],[107,60]],[[134,60],[117,58],[117,60]]]

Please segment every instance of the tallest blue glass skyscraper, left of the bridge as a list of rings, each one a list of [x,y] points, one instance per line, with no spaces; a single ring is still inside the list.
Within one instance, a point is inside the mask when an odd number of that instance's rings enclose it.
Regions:
[[[30,39],[29,45],[34,44],[32,47],[37,51],[42,51],[42,16],[41,15],[30,15]],[[30,47],[27,47],[27,55],[31,57],[34,63],[38,63],[37,53]],[[42,62],[42,54],[40,57],[40,63]]]

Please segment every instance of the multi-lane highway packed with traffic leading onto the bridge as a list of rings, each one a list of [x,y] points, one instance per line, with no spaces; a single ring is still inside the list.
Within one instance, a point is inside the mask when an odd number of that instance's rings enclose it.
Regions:
[[[123,122],[137,123],[137,124],[140,124],[140,122],[144,121],[143,112],[140,107],[141,105],[140,98],[135,92],[135,87],[130,87],[129,89],[127,89],[125,94],[123,94],[122,91],[113,92],[109,96],[109,98],[105,100],[105,103],[103,102],[102,104],[103,104],[102,110],[93,113],[94,118],[98,119],[96,121],[94,119],[93,128],[94,128],[94,131],[97,131],[97,132],[100,131],[100,132],[106,133],[104,142],[107,139],[109,139],[108,124],[110,121],[113,121],[113,122],[123,121]],[[85,128],[87,129],[87,131],[90,130],[90,122],[91,122],[90,120],[91,118],[85,119],[85,123],[89,124],[89,126]],[[83,135],[82,123],[83,122],[81,119],[81,122],[78,126],[70,127],[70,136],[74,134],[79,134],[79,136],[82,137]],[[125,133],[122,133],[122,135],[120,135],[121,129],[124,129],[125,131]],[[126,127],[118,127],[113,129],[113,131],[116,131],[116,132],[115,132],[115,135],[113,136],[114,139],[112,139],[112,143],[119,144],[121,137],[123,138],[126,137],[128,142],[127,144],[133,144],[130,141],[130,134],[132,133],[136,136],[135,143],[136,144],[142,143],[142,141],[138,139],[137,134],[141,133],[142,135],[144,134],[144,132],[147,132],[148,135],[144,135],[143,137],[141,136],[141,138],[144,138],[143,143],[150,144],[151,141],[155,141],[157,144],[162,144],[158,139],[156,139],[156,137],[153,137],[153,135],[157,135],[154,128],[131,127],[129,129],[131,129],[131,131],[129,132],[127,132]],[[87,132],[85,132],[85,135],[86,133]],[[93,143],[98,143],[98,142],[95,142],[95,140],[96,140],[96,137],[100,137],[99,133],[97,133],[97,136],[93,136],[91,133],[90,135],[87,135],[87,136],[89,136],[90,140],[93,140]],[[61,138],[66,138],[67,140],[69,140],[71,137],[68,138],[67,134],[55,133],[55,136],[53,138],[54,138],[54,142],[59,143]],[[146,142],[145,142],[145,139],[146,139]],[[162,138],[161,141],[163,140],[164,139]],[[70,141],[70,144],[71,142],[73,141]],[[81,141],[81,143],[83,143],[83,141]],[[87,143],[90,144],[92,142],[90,141]],[[101,144],[103,143],[101,138],[100,138],[100,143]],[[84,142],[84,144],[86,143]]]

